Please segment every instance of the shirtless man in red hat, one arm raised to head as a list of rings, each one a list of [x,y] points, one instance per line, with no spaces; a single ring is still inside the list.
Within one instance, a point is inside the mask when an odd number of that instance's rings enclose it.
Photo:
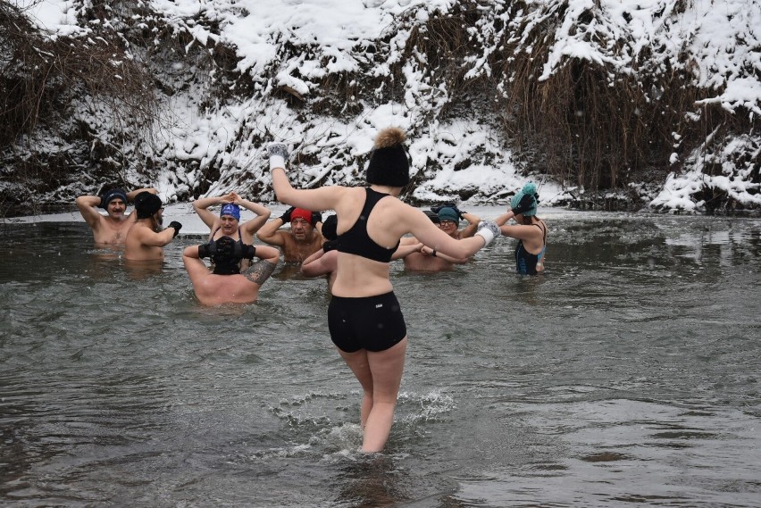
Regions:
[[[280,227],[290,222],[290,231],[280,231]],[[325,238],[316,229],[322,224],[320,212],[310,212],[303,208],[291,206],[279,218],[263,225],[256,234],[265,244],[279,246],[283,251],[283,260],[301,264],[310,255],[322,248]]]

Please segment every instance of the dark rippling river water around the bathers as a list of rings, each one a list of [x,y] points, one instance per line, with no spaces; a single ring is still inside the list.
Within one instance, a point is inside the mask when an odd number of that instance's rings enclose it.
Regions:
[[[496,213],[495,213],[496,215]],[[761,506],[761,221],[550,220],[548,272],[502,238],[392,270],[410,331],[387,452],[322,279],[194,301],[83,223],[6,225],[0,505]]]

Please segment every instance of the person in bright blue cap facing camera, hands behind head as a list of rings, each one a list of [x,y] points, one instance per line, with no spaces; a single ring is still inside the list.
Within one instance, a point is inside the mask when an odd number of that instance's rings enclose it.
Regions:
[[[220,214],[216,215],[209,210],[214,205],[222,205]],[[230,192],[219,197],[202,197],[193,202],[198,217],[204,221],[211,231],[209,240],[217,240],[221,237],[230,237],[242,245],[252,245],[254,235],[270,218],[270,210],[263,204],[254,203],[243,199],[235,192]],[[254,212],[255,217],[249,221],[240,221],[240,209],[244,208]],[[250,262],[242,260],[241,271],[246,271]]]

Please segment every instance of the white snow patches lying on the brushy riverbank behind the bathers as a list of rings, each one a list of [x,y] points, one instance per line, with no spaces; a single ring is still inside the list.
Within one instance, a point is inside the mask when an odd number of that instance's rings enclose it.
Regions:
[[[28,9],[29,17],[46,29],[51,37],[86,34],[87,27],[77,24],[76,14],[81,1],[74,0],[10,0]],[[636,4],[620,0],[600,3],[590,0],[529,0],[522,15],[531,22],[547,21],[562,12],[555,41],[545,55],[542,79],[563,65],[568,57],[598,62],[619,72],[630,68],[637,55],[658,48],[653,65],[690,66],[695,82],[714,91],[700,101],[717,103],[732,112],[739,107],[749,114],[761,114],[761,0],[691,0],[686,12],[679,13],[682,0],[643,0]],[[142,4],[142,3],[141,3]],[[220,41],[234,47],[240,58],[238,71],[249,73],[263,89],[288,86],[302,96],[319,94],[316,84],[325,75],[357,71],[366,55],[357,48],[373,44],[391,34],[385,62],[374,72],[388,73],[389,65],[401,62],[400,49],[406,45],[415,22],[422,24],[435,12],[449,12],[455,0],[151,0],[145,2],[163,19],[180,30],[187,30],[201,45]],[[494,0],[493,8],[505,3]],[[579,23],[588,12],[595,12],[593,23]],[[413,25],[398,26],[400,16]],[[535,19],[531,18],[534,17]],[[731,21],[731,22],[730,22]],[[515,22],[515,20],[511,20]],[[578,29],[580,26],[586,30]],[[393,28],[393,29],[392,29]],[[590,33],[589,30],[595,30]],[[596,37],[602,34],[605,37]],[[284,40],[290,46],[307,48],[296,54],[281,54]],[[623,47],[610,41],[625,41]],[[691,59],[685,62],[684,48]],[[493,49],[493,48],[492,48]],[[489,51],[489,48],[485,49]],[[660,60],[660,62],[659,62]],[[482,63],[482,62],[481,62]],[[265,81],[272,67],[279,69],[274,82]],[[478,119],[463,119],[458,125],[439,125],[429,121],[431,111],[446,103],[447,90],[426,82],[419,65],[411,59],[404,63],[406,81],[404,101],[400,104],[364,104],[364,111],[355,117],[310,119],[297,121],[294,112],[280,101],[264,102],[252,97],[241,104],[223,104],[200,112],[197,97],[181,94],[167,103],[168,116],[175,121],[167,132],[162,150],[177,160],[199,162],[196,172],[163,174],[155,182],[162,196],[173,199],[187,196],[197,186],[198,171],[215,162],[221,167],[221,178],[208,195],[239,189],[241,182],[265,179],[261,146],[236,133],[272,133],[305,154],[314,154],[318,162],[301,168],[297,185],[312,186],[327,178],[330,183],[355,184],[364,171],[348,166],[348,154],[368,154],[372,137],[383,127],[397,125],[410,130],[410,153],[413,173],[424,171],[426,161],[439,162],[436,174],[424,175],[415,193],[422,200],[437,201],[454,196],[462,189],[472,189],[472,201],[484,196],[506,196],[523,186],[511,154],[506,153],[498,137],[485,129]],[[489,73],[488,67],[473,63],[472,74]],[[648,71],[648,70],[644,70]],[[435,118],[436,115],[433,115]],[[758,144],[757,133],[750,141]],[[746,140],[747,141],[747,140]],[[737,147],[732,141],[729,146]],[[330,153],[330,154],[329,154]],[[470,161],[464,171],[456,171],[458,162],[473,154],[488,154],[489,162]],[[730,157],[730,155],[728,155]],[[692,193],[704,186],[724,190],[742,204],[758,204],[758,185],[738,182],[733,170],[722,164],[723,175],[707,179],[701,171],[699,154],[692,155],[692,165],[681,174],[672,174],[652,205],[683,211],[698,210]],[[679,162],[676,154],[672,163]],[[752,166],[749,166],[752,171]],[[758,170],[756,170],[758,171]],[[265,171],[264,171],[265,172]],[[563,189],[551,182],[546,186],[549,204],[564,195]],[[555,196],[555,197],[553,197]],[[263,196],[268,198],[272,196]]]

